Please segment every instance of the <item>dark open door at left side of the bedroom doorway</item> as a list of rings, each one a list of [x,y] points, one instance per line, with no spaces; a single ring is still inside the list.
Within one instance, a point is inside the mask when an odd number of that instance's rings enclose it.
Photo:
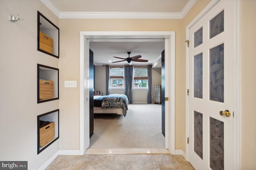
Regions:
[[[94,65],[93,65],[93,52],[90,50],[89,56],[89,97],[90,97],[90,137],[94,130],[94,114],[93,114],[93,95],[94,95]]]

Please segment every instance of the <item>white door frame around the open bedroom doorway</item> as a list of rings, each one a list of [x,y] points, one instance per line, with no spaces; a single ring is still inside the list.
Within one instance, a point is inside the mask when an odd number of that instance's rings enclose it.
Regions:
[[[89,138],[89,43],[94,39],[164,39],[165,40],[165,148],[175,154],[175,32],[80,32],[80,154],[90,146]]]

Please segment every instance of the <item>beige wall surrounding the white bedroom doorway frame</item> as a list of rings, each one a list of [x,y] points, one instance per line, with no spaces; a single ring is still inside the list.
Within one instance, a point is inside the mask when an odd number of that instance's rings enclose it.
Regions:
[[[175,31],[176,33],[176,96],[175,109],[179,114],[175,115],[177,150],[186,150],[186,59],[185,59],[185,26],[196,16],[198,12],[208,4],[209,0],[198,0],[196,9],[189,12],[185,20],[149,20],[149,19],[60,19],[60,84],[64,80],[75,79],[79,82],[79,33],[80,31]],[[191,16],[191,17],[190,17]],[[79,83],[78,83],[79,84]],[[62,95],[70,89],[60,86]],[[60,96],[61,97],[61,96]],[[61,97],[60,109],[62,110],[63,125],[60,134],[66,138],[60,139],[60,150],[79,149],[79,86],[73,89],[72,98]],[[65,126],[71,123],[72,127]]]

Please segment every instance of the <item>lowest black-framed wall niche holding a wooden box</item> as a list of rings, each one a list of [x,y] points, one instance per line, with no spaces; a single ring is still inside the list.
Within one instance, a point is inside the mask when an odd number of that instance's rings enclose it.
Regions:
[[[37,116],[37,154],[59,138],[59,109]]]

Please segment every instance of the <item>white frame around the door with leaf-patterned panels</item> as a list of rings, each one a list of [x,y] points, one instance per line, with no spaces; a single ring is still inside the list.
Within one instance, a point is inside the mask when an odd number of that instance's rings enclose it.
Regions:
[[[189,40],[189,29],[194,26],[212,7],[220,0],[212,0],[191,22],[186,26],[186,40]],[[234,2],[234,168],[241,168],[241,2]],[[188,52],[186,46],[186,89],[188,89]],[[186,94],[186,139],[189,137],[188,95]],[[189,144],[186,142],[186,160],[189,162]]]

